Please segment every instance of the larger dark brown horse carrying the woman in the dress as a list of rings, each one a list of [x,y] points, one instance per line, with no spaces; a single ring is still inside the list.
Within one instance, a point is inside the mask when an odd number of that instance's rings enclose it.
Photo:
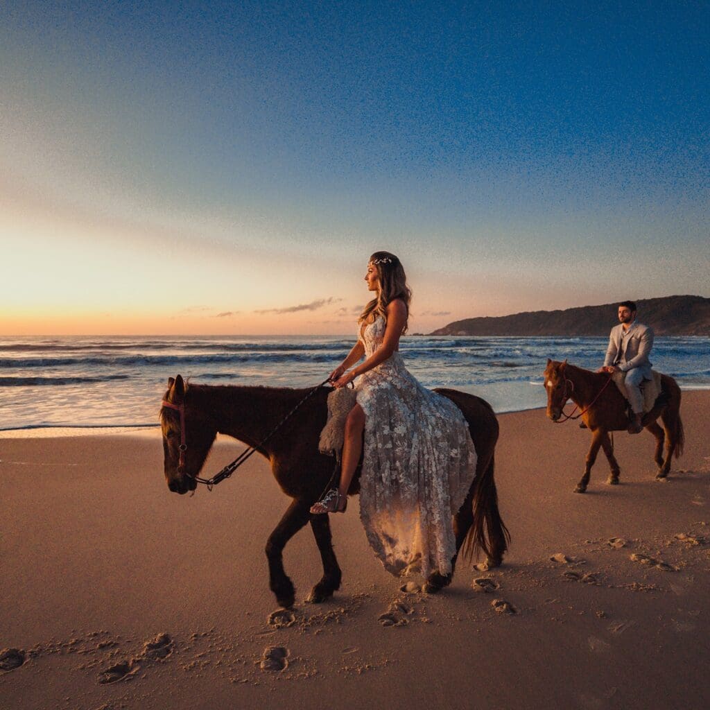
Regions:
[[[339,589],[341,571],[332,547],[328,515],[311,515],[310,506],[321,496],[332,476],[332,457],[318,451],[320,432],[327,417],[326,398],[330,388],[320,388],[307,399],[297,413],[257,449],[271,463],[271,470],[281,490],[293,502],[266,543],[269,586],[282,606],[293,606],[295,588],[283,568],[283,548],[288,540],[310,523],[323,562],[323,577],[313,587],[308,601],[321,602]],[[498,439],[498,421],[488,403],[454,390],[437,390],[452,400],[469,422],[471,438],[478,454],[476,477],[461,510],[454,516],[457,555],[461,547],[466,557],[476,551],[486,553],[486,564],[497,567],[507,550],[510,537],[498,513],[498,494],[493,481],[493,452]],[[186,386],[178,375],[168,380],[168,392],[160,409],[165,454],[165,479],[175,493],[194,491],[195,476],[200,473],[217,433],[258,447],[268,432],[299,403],[307,390],[271,387]],[[170,406],[172,405],[172,406]],[[180,414],[173,408],[182,408]],[[181,445],[187,449],[180,452]],[[350,494],[359,492],[355,477]],[[452,562],[455,564],[457,555]],[[453,574],[453,569],[452,569]],[[425,590],[430,594],[447,586],[452,574],[432,574]]]

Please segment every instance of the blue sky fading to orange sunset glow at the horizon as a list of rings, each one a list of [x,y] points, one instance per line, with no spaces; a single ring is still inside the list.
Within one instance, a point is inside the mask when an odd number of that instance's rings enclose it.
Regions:
[[[706,2],[0,4],[0,336],[710,297]],[[613,320],[613,318],[612,318]]]

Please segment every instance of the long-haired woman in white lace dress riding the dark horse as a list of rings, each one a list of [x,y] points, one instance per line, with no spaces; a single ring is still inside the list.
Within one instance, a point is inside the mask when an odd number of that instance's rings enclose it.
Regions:
[[[398,352],[411,299],[399,259],[374,253],[365,280],[376,297],[359,318],[357,343],[331,373],[337,388],[357,378],[341,480],[311,513],[344,510],[363,454],[360,515],[377,557],[395,575],[446,576],[456,552],[452,515],[471,488],[476,451],[459,408],[422,387]]]

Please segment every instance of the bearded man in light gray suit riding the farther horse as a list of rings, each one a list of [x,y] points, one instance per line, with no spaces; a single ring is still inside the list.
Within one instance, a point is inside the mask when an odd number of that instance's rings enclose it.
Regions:
[[[640,385],[644,380],[653,378],[648,359],[653,346],[653,331],[648,325],[636,320],[636,304],[633,301],[619,304],[618,317],[619,324],[611,329],[606,357],[599,372],[626,372],[624,385],[633,411],[628,432],[638,434],[643,430],[643,395]]]

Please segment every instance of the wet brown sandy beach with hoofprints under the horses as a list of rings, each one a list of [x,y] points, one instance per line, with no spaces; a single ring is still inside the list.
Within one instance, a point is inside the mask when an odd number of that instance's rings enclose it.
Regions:
[[[263,459],[189,498],[165,485],[158,430],[3,439],[0,648],[18,652],[0,708],[706,708],[709,406],[684,393],[670,479],[648,433],[617,434],[621,485],[600,456],[583,496],[589,432],[500,415],[503,567],[400,591],[352,499],[332,520],[332,601],[303,601],[321,574],[310,529],[286,548],[293,611],[268,590],[288,498]],[[240,449],[220,440],[209,470]]]

